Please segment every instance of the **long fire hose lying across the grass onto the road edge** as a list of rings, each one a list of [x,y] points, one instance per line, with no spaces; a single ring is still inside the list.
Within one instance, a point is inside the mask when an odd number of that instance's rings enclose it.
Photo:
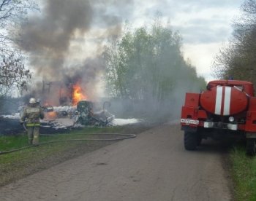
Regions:
[[[26,126],[23,124],[23,127],[25,130]],[[40,135],[45,135],[45,136],[53,136],[54,134],[40,134]],[[61,135],[69,135],[69,134],[61,134]],[[75,142],[75,141],[121,141],[121,140],[125,140],[125,139],[129,139],[129,138],[136,138],[135,134],[121,134],[121,133],[75,133],[75,135],[102,135],[102,136],[109,136],[109,135],[116,135],[119,136],[119,138],[78,138],[78,139],[70,139],[70,140],[58,140],[58,141],[47,141],[47,142],[42,142],[39,143],[38,146],[42,146],[45,144],[49,144],[49,143],[60,143],[60,142]],[[18,149],[12,149],[12,150],[8,150],[8,151],[0,151],[0,155],[1,154],[9,154],[15,151],[21,151],[23,149],[29,149],[31,147],[34,147],[34,145],[29,145],[29,146],[23,146],[21,148]]]

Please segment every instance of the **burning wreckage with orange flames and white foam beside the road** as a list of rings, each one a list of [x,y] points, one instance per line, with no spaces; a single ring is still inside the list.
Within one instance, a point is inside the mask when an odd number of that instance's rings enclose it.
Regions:
[[[56,82],[54,85],[51,84],[54,90],[57,90],[58,85],[59,103],[65,102],[67,105],[51,106],[49,103],[53,102],[53,99],[56,102],[56,95],[53,96],[53,92],[49,87],[48,93],[44,93],[43,97],[45,103],[43,103],[42,109],[46,112],[45,119],[69,118],[74,120],[74,125],[110,125],[114,116],[106,111],[105,103],[103,104],[103,109],[96,111],[94,103],[86,101],[88,99],[87,95],[78,82],[69,84],[68,87],[63,87],[64,85],[60,82]]]

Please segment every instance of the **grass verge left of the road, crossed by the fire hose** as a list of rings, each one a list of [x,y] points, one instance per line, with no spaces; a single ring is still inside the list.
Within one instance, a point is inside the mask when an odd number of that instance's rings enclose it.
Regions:
[[[125,133],[125,127],[85,127],[79,130],[71,130],[65,134],[42,135],[39,137],[39,142],[97,138],[94,135],[92,137],[91,135],[80,135],[81,133]],[[98,138],[102,137],[99,136]],[[39,170],[47,169],[67,159],[94,151],[110,143],[113,142],[68,141],[47,143],[9,154],[0,154],[0,186],[9,184],[24,176],[29,176]],[[28,138],[25,133],[0,136],[0,151],[19,149],[24,146],[28,146]]]

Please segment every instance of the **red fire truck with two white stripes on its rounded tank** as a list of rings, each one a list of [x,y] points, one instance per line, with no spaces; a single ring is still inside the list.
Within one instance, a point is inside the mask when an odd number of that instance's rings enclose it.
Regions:
[[[246,154],[256,154],[256,97],[252,82],[215,80],[200,93],[187,92],[181,110],[184,146],[202,139],[246,139]]]

